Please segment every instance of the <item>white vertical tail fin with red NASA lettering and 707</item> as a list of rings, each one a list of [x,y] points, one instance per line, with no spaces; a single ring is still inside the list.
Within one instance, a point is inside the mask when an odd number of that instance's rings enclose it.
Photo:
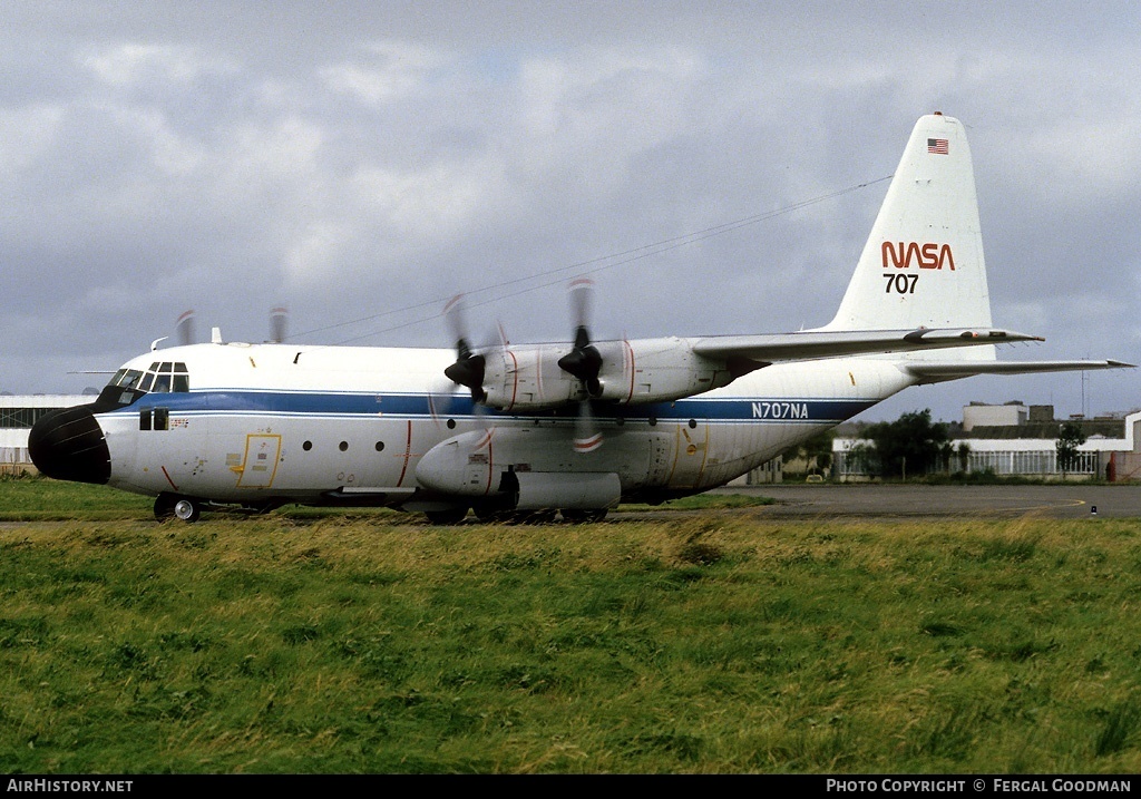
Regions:
[[[990,326],[971,152],[963,124],[942,114],[912,130],[840,309],[823,330],[921,326]],[[970,349],[972,360],[994,356],[993,347]]]

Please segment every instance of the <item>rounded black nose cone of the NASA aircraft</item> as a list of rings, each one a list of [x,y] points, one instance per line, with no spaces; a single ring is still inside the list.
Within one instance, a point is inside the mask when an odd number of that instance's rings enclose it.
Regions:
[[[27,452],[41,474],[75,483],[111,479],[111,452],[103,428],[87,405],[42,417],[27,436]]]

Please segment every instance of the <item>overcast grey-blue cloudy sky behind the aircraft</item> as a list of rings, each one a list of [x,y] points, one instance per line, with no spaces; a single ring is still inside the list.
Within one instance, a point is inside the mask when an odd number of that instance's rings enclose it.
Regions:
[[[189,308],[448,346],[468,292],[472,328],[569,340],[594,269],[596,338],[825,324],[932,111],[968,128],[995,324],[1046,337],[1000,357],[1138,362],[1139,8],[5,0],[0,390],[102,385],[72,372]],[[863,418],[1139,388],[973,378]]]

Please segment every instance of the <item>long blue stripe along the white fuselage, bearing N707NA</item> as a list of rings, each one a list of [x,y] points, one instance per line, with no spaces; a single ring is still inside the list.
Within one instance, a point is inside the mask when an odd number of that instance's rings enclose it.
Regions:
[[[648,405],[608,405],[592,403],[599,418],[702,419],[709,422],[779,421],[801,423],[839,422],[867,410],[876,400],[761,400],[748,397],[689,397]],[[470,417],[476,413],[471,397],[428,394],[346,394],[333,392],[244,392],[217,390],[188,394],[147,394],[136,403],[110,411],[132,414],[140,410],[167,407],[173,413],[269,413],[282,415],[337,417]],[[507,418],[573,419],[576,405],[536,413],[501,413],[480,409],[480,413]]]

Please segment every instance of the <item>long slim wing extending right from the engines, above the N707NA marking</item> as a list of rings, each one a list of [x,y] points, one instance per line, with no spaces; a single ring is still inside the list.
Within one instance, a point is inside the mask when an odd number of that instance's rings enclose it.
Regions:
[[[775,363],[1041,340],[1037,336],[994,328],[806,330],[776,336],[711,336],[695,341],[694,353],[705,357]]]

